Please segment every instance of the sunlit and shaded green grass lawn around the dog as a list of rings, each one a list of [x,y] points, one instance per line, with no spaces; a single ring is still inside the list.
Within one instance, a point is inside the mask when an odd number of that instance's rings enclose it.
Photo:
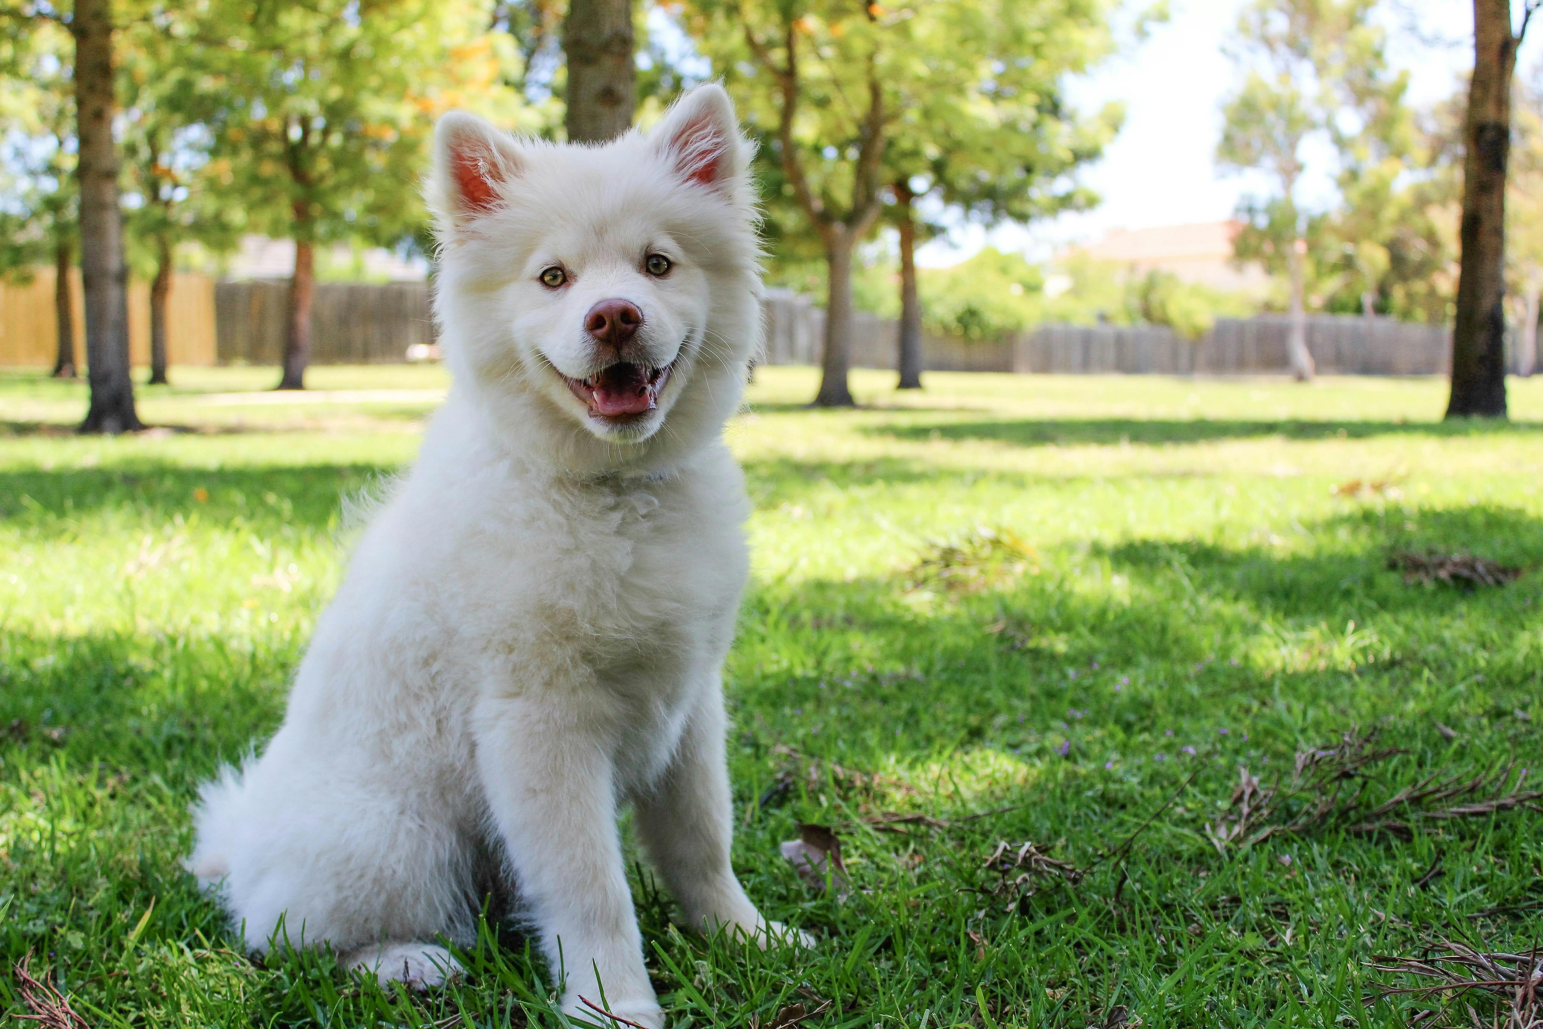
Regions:
[[[278,722],[339,501],[446,384],[275,375],[173,369],[140,410],[177,430],[80,440],[83,387],[0,373],[0,960],[91,1026],[562,1024],[514,929],[461,984],[381,992],[253,963],[179,865],[196,785]],[[813,412],[812,370],[761,369],[730,427],[734,861],[819,947],[684,935],[639,865],[671,1024],[1472,1024],[1364,1003],[1420,984],[1367,966],[1543,943],[1543,807],[1514,802],[1543,762],[1543,381],[1509,426],[1446,426],[1437,381],[892,380]],[[1531,571],[1407,585],[1403,551]],[[779,855],[801,822],[849,890]]]

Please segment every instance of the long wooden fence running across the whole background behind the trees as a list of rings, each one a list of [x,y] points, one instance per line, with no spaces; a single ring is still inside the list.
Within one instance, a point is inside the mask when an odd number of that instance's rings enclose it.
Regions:
[[[74,276],[76,341],[82,344],[79,275]],[[0,287],[0,366],[49,366],[54,359],[54,273]],[[287,281],[211,282],[179,273],[168,304],[171,364],[278,364],[284,353]],[[819,364],[826,313],[810,298],[768,290],[765,364]],[[923,335],[923,366],[937,372],[1035,372],[1128,375],[1271,375],[1290,370],[1287,319],[1262,315],[1219,319],[1188,341],[1154,326],[1043,326],[1004,339]],[[858,313],[853,367],[892,369],[898,326]],[[434,342],[429,287],[322,282],[312,312],[312,361],[380,364],[406,359],[407,347]],[[1389,318],[1316,316],[1307,347],[1325,375],[1444,375],[1450,330]],[[150,293],[130,290],[130,353],[150,359]],[[80,355],[77,353],[77,364]]]

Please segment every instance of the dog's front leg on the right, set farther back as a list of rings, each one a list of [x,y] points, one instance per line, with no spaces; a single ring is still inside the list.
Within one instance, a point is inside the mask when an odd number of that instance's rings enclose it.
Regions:
[[[713,682],[691,713],[663,779],[637,798],[637,835],[688,923],[705,930],[738,930],[764,947],[785,938],[787,930],[762,918],[730,865],[733,801],[725,730],[722,688]],[[812,943],[801,932],[792,940]]]

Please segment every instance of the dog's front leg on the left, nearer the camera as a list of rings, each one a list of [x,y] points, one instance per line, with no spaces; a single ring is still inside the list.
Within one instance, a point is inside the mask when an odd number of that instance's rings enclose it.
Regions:
[[[582,703],[551,693],[485,700],[478,771],[520,902],[552,973],[566,975],[563,1010],[596,1021],[585,998],[662,1026],[617,838],[611,731]]]

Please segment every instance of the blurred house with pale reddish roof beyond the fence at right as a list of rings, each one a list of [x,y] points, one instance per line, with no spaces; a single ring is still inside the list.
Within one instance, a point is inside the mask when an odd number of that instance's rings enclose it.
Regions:
[[[1116,228],[1096,244],[1075,251],[1096,261],[1109,261],[1139,275],[1170,272],[1187,282],[1217,290],[1262,293],[1270,276],[1258,262],[1233,262],[1233,239],[1242,222],[1196,222],[1156,228]]]

